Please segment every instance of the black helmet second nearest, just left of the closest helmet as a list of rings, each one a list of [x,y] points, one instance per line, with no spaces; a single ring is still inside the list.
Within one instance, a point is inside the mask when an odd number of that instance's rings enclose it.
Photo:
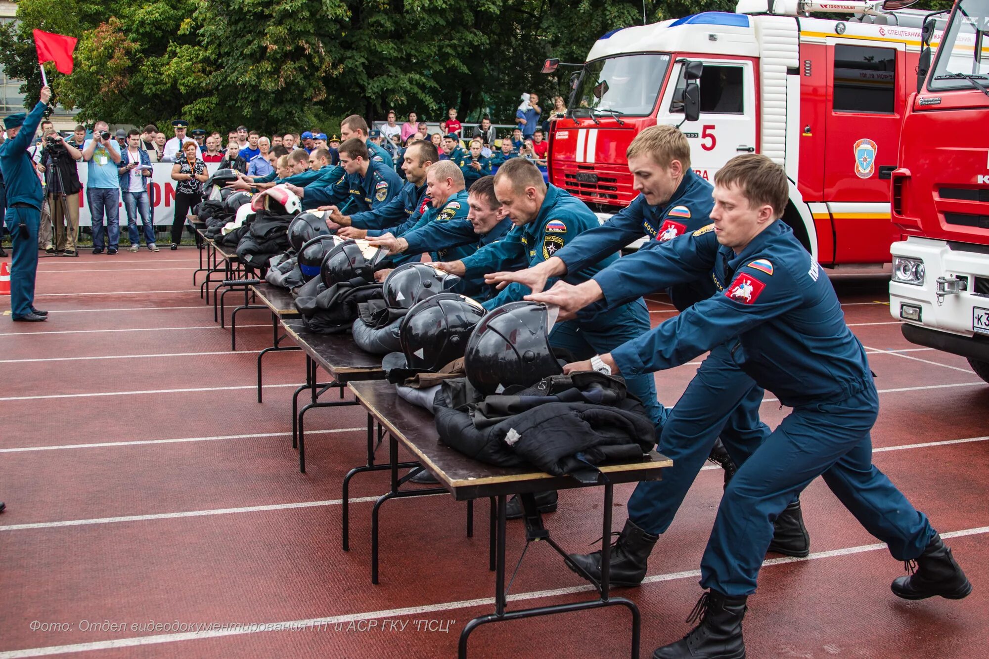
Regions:
[[[485,309],[456,293],[440,293],[408,310],[399,341],[408,368],[438,371],[464,356],[468,337]]]

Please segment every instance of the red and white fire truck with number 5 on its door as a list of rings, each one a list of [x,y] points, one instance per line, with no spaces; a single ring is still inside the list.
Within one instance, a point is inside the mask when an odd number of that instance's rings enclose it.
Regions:
[[[637,194],[629,142],[657,123],[681,124],[695,82],[699,117],[681,130],[698,174],[711,179],[739,153],[764,153],[790,177],[783,221],[822,265],[888,263],[900,238],[889,177],[926,13],[881,7],[741,0],[734,14],[604,35],[572,78],[567,117],[551,123],[550,182],[602,217],[628,205]],[[849,18],[812,17],[822,12]]]

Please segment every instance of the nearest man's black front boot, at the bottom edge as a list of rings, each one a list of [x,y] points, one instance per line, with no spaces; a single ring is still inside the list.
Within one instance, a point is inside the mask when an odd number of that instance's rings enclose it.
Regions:
[[[657,648],[653,659],[745,659],[742,617],[746,599],[717,591],[704,593],[686,619],[700,618],[700,623],[675,643]]]

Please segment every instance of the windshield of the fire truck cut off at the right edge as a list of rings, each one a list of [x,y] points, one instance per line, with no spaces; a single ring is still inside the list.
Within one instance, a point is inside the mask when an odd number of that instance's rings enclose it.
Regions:
[[[989,0],[961,0],[938,50],[929,89],[989,83]]]

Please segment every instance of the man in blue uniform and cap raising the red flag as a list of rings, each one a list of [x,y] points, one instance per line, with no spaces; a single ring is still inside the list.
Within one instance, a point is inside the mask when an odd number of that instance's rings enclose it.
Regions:
[[[42,184],[35,162],[28,155],[35,132],[42,123],[51,90],[42,87],[40,100],[30,114],[19,112],[3,120],[7,140],[0,145],[0,172],[7,187],[7,231],[14,241],[10,273],[11,319],[47,320],[47,312],[35,309],[35,277],[38,273],[38,230],[42,223]]]

